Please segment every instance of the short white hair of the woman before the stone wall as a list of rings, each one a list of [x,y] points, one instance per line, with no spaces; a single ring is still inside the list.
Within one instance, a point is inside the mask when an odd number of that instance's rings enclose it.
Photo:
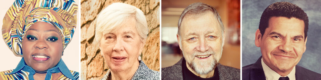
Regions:
[[[146,17],[142,10],[125,3],[110,4],[99,13],[95,29],[97,42],[100,44],[100,39],[104,33],[109,33],[119,28],[130,17],[135,18],[138,35],[140,40],[144,42],[148,34]]]

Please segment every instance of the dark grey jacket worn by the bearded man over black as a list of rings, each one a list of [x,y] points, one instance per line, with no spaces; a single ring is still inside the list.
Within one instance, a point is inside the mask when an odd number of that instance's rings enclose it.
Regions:
[[[179,60],[176,64],[170,67],[161,68],[162,80],[183,80],[182,73],[182,60]],[[220,80],[240,80],[240,69],[217,65],[219,71]]]

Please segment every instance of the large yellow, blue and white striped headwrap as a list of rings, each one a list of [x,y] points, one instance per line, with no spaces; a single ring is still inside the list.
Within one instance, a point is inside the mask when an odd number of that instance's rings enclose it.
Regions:
[[[73,0],[16,0],[4,16],[2,36],[14,53],[22,55],[22,40],[30,26],[47,22],[59,30],[65,49],[76,28],[77,9]]]

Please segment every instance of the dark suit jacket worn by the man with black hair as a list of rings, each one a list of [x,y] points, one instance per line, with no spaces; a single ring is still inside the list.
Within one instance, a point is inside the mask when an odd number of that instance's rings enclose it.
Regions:
[[[254,63],[242,67],[242,80],[265,80],[265,74],[261,64],[262,56]],[[321,80],[321,74],[303,68],[299,65],[295,66],[296,80]]]

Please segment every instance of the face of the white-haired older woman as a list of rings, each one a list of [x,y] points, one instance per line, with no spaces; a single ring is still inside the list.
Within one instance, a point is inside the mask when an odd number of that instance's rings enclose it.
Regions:
[[[135,27],[136,20],[129,18],[120,27],[105,33],[100,39],[100,49],[112,71],[124,71],[138,63],[138,56],[143,50]]]

